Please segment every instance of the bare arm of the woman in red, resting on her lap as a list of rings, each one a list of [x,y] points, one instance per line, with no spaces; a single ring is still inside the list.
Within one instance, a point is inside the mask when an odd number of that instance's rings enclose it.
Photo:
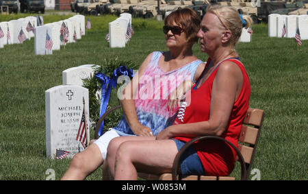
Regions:
[[[209,120],[171,125],[157,134],[157,139],[173,136],[221,136],[229,123],[234,101],[242,89],[242,71],[233,62],[220,64],[211,92]]]

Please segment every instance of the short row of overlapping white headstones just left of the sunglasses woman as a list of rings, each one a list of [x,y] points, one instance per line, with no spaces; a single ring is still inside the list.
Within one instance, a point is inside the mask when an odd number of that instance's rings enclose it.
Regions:
[[[110,22],[108,39],[110,47],[125,47],[125,44],[129,41],[129,27],[131,27],[131,14],[123,13],[120,17]]]

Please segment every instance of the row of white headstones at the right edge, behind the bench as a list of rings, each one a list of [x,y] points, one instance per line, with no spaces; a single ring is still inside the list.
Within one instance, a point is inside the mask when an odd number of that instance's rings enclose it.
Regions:
[[[300,32],[302,40],[308,39],[308,15],[268,15],[268,36],[281,38],[285,25],[285,37],[294,38],[296,29]]]

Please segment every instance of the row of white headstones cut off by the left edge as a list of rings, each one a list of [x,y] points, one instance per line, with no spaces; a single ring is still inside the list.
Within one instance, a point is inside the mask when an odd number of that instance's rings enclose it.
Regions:
[[[39,20],[38,20],[38,17]],[[11,20],[11,21],[3,21],[0,23],[0,27],[3,33],[3,37],[0,38],[0,48],[3,48],[4,45],[11,45],[11,44],[20,44],[21,42],[18,40],[18,35],[23,29],[23,33],[25,37],[30,40],[34,37],[34,32],[29,31],[27,32],[27,25],[28,23],[31,24],[32,27],[37,27],[38,25],[42,25],[43,18],[42,16],[27,16],[25,18]],[[38,22],[39,21],[39,22]],[[9,31],[9,36],[8,36]]]

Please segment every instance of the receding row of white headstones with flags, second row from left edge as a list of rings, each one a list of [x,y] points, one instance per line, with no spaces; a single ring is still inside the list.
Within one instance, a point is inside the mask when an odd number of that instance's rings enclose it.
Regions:
[[[62,24],[65,23],[68,28],[69,36],[67,43],[75,43],[73,36],[76,33],[76,38],[80,39],[81,36],[86,34],[85,17],[84,15],[75,15],[63,21],[57,21],[53,23],[47,23],[40,27],[34,29],[35,39],[34,39],[34,53],[36,55],[52,54],[53,50],[60,50],[61,45],[65,45],[64,41],[61,40],[60,29]],[[53,41],[53,46],[51,50],[45,48],[46,36],[49,34],[51,40]]]

